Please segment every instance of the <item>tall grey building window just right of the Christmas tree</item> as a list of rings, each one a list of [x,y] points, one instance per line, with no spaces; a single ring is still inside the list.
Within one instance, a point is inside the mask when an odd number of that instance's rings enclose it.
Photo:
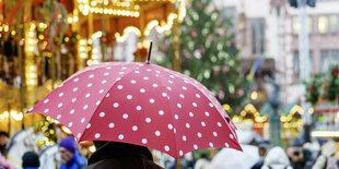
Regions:
[[[265,50],[265,20],[250,20],[252,52],[260,55]]]

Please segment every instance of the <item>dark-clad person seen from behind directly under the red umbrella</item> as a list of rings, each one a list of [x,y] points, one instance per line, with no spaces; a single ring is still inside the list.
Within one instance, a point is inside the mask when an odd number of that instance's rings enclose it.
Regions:
[[[90,157],[85,169],[162,169],[153,161],[151,152],[144,146],[107,141],[93,143],[96,152]]]

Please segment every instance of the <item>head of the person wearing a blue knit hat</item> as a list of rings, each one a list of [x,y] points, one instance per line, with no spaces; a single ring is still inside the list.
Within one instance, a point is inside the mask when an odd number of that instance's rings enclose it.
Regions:
[[[75,141],[72,136],[67,136],[62,138],[59,143],[59,154],[61,157],[61,162],[67,164],[69,160],[71,160],[75,150]]]

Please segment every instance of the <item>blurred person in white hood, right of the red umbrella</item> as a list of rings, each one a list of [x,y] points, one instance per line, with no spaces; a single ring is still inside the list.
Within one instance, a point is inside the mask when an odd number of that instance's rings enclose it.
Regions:
[[[293,169],[293,167],[284,149],[277,146],[268,152],[261,169]]]

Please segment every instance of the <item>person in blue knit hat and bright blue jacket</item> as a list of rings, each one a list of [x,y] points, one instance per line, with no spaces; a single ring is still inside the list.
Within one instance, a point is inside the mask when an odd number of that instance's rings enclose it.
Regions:
[[[72,136],[67,136],[59,143],[59,154],[61,165],[59,169],[83,169],[86,161],[82,158],[75,146],[75,141]]]

